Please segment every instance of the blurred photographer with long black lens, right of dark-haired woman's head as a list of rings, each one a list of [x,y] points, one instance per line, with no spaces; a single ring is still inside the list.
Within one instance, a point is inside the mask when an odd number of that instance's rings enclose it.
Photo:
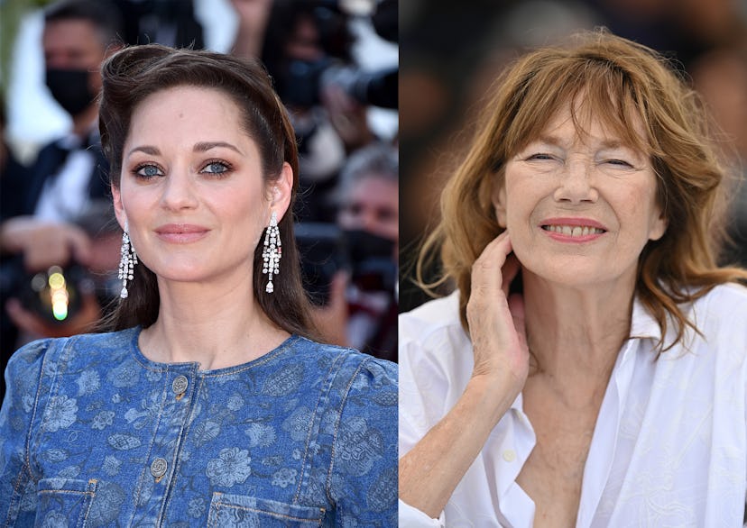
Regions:
[[[378,139],[369,126],[369,108],[397,105],[396,68],[364,72],[352,53],[360,43],[356,23],[370,23],[379,39],[395,38],[396,3],[387,8],[382,5],[391,2],[372,2],[360,13],[349,4],[274,0],[264,28],[261,59],[299,141],[300,185],[307,196],[302,222],[335,222],[332,196],[346,157]],[[254,26],[263,20],[258,11]]]

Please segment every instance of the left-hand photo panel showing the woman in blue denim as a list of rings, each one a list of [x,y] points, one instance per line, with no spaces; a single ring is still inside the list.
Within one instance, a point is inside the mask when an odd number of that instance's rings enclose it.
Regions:
[[[397,526],[398,18],[0,2],[0,523]]]

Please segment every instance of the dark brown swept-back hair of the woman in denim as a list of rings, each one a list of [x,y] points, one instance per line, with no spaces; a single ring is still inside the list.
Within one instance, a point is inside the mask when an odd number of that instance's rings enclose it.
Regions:
[[[278,227],[282,259],[275,291],[264,291],[262,242],[254,250],[254,296],[265,314],[287,332],[313,337],[309,301],[301,285],[299,254],[293,236],[292,206],[299,184],[299,159],[291,121],[272,90],[259,63],[203,50],[174,50],[158,44],[120,50],[102,67],[99,128],[111,165],[111,182],[120,186],[124,141],[133,113],[143,100],[174,86],[200,86],[219,90],[240,110],[244,131],[254,140],[262,159],[266,186],[281,175],[283,162],[293,170],[291,206]],[[107,329],[140,324],[148,327],[158,317],[160,297],[153,272],[143,263],[135,267],[129,296],[120,301]]]

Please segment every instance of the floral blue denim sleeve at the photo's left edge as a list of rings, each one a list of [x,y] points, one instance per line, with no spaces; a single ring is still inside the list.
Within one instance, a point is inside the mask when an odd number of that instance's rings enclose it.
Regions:
[[[42,371],[51,340],[34,341],[16,351],[5,369],[5,399],[0,410],[0,524],[32,526],[36,514],[36,485],[27,445],[42,390]],[[38,422],[37,422],[38,423]]]

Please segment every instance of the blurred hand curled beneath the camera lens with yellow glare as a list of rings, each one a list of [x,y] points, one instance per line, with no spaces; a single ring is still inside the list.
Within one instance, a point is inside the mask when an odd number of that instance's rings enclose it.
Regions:
[[[90,332],[101,317],[101,306],[96,295],[84,293],[80,310],[64,323],[51,323],[21,305],[18,299],[9,299],[5,311],[19,330],[33,336],[68,337],[77,333]]]

